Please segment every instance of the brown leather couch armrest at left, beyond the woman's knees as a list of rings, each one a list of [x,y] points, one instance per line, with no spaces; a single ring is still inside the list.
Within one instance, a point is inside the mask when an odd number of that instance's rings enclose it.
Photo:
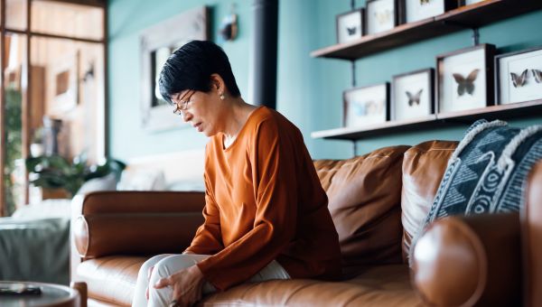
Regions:
[[[86,259],[181,253],[203,222],[202,192],[101,191],[72,202],[73,241]]]

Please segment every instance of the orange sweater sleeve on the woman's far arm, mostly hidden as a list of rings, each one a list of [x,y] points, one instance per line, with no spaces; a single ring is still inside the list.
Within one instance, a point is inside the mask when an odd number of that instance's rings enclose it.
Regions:
[[[190,247],[186,252],[192,252],[199,255],[213,255],[218,253],[224,244],[220,234],[220,210],[216,201],[212,197],[207,176],[205,179],[205,207],[203,208],[203,225],[196,231],[196,236],[192,239]]]

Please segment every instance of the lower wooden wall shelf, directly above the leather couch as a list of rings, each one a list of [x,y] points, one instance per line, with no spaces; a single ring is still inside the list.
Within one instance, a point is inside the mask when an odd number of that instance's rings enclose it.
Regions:
[[[408,131],[422,131],[429,128],[442,128],[459,124],[470,125],[475,120],[481,118],[493,120],[540,115],[542,115],[542,99],[509,105],[481,107],[467,111],[439,113],[414,120],[389,121],[383,124],[364,127],[342,127],[315,131],[311,136],[313,138],[355,141],[361,138]]]

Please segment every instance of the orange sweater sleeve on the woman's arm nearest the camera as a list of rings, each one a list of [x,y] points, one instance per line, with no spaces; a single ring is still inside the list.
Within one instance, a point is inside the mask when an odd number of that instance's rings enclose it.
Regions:
[[[276,259],[295,233],[297,218],[293,131],[264,120],[251,135],[248,155],[256,198],[254,227],[198,266],[219,290],[247,281]]]

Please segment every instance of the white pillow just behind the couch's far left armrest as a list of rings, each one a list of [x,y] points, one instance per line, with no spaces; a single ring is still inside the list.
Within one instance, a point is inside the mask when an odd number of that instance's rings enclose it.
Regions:
[[[164,172],[126,169],[117,184],[118,191],[164,191]]]

